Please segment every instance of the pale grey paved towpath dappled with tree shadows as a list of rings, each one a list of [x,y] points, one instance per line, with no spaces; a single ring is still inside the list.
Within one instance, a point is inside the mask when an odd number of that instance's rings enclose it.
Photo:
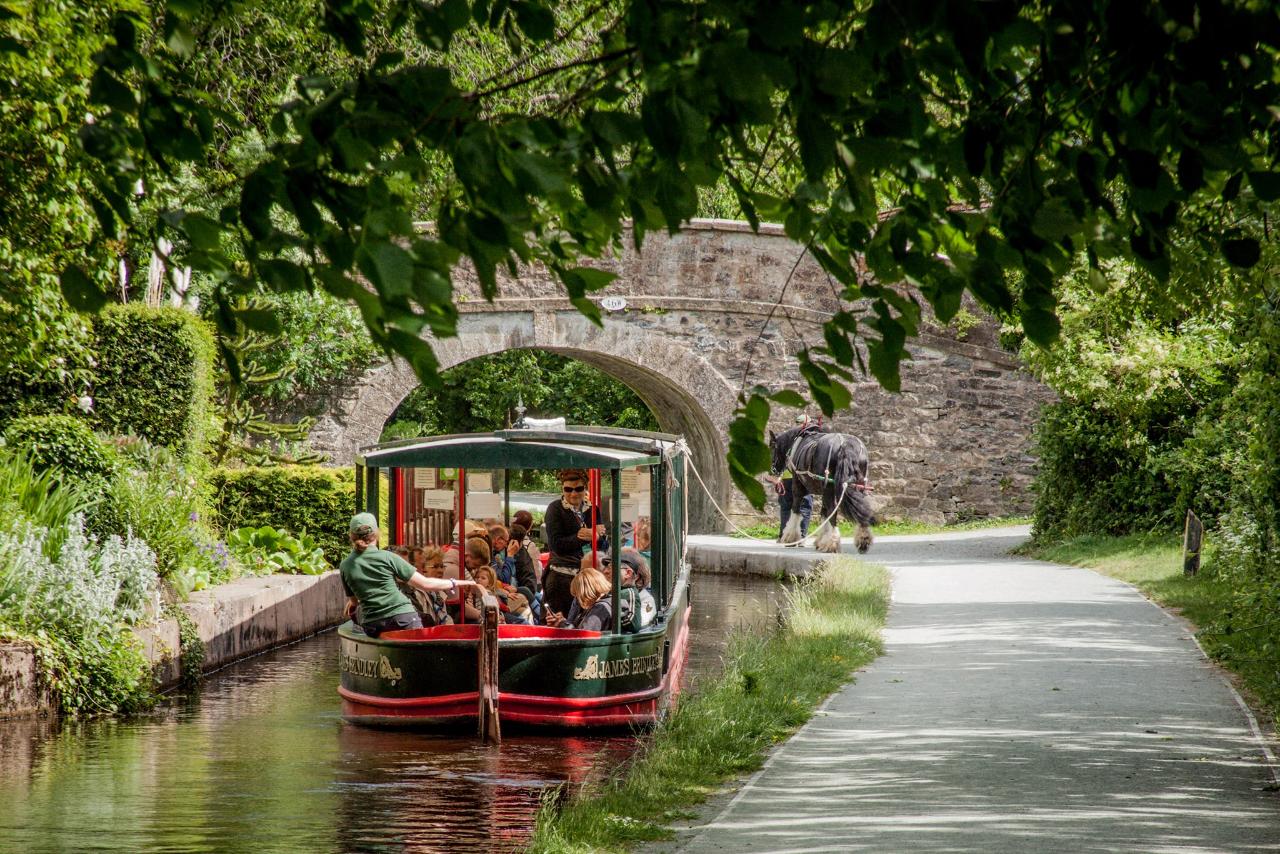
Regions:
[[[1025,535],[879,539],[884,656],[663,849],[1280,850],[1270,741],[1187,625]]]

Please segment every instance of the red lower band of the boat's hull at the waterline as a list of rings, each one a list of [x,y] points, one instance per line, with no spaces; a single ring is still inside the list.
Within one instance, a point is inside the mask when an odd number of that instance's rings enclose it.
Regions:
[[[506,626],[503,626],[506,627]],[[390,632],[388,632],[390,634]],[[595,634],[595,632],[591,632]],[[498,694],[498,716],[503,723],[557,727],[644,726],[657,722],[668,703],[680,693],[689,653],[689,624],[680,627],[673,644],[671,668],[662,684],[636,694],[609,697],[534,697]],[[338,688],[342,716],[353,723],[378,726],[443,726],[476,720],[480,698],[476,691],[439,697],[393,699],[358,694]]]

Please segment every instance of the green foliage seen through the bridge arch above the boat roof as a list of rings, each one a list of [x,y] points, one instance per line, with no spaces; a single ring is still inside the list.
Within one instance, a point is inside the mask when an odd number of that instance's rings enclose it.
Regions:
[[[599,369],[547,351],[509,350],[444,371],[439,387],[416,388],[388,421],[383,439],[506,429],[517,417],[518,401],[534,417],[659,429],[644,401]]]

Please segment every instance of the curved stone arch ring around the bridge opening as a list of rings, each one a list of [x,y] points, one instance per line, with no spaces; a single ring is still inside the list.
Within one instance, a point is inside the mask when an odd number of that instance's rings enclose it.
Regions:
[[[707,360],[669,338],[618,320],[600,329],[577,311],[493,311],[465,314],[457,337],[433,346],[440,370],[508,350],[547,350],[598,367],[635,391],[663,430],[686,438],[716,502],[728,506],[724,430],[736,389]],[[387,420],[417,385],[401,360],[366,371],[316,423],[311,446],[335,461],[351,460],[360,447],[378,442]],[[572,414],[566,416],[572,421]],[[691,530],[722,530],[707,494],[691,485],[689,495]]]

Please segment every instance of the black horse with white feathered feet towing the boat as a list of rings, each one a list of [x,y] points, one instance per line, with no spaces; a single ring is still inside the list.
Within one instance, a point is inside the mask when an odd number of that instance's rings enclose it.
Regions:
[[[822,495],[822,526],[814,534],[814,548],[819,552],[840,551],[840,529],[836,522],[840,515],[858,522],[858,535],[854,544],[859,552],[872,545],[872,525],[876,513],[867,498],[870,487],[867,485],[867,446],[858,437],[846,433],[832,433],[826,428],[803,425],[785,430],[777,435],[769,431],[769,446],[773,449],[773,474],[791,471],[795,495],[791,502],[791,519],[782,531],[783,543],[800,542],[800,502],[805,495]],[[836,503],[840,503],[840,512]],[[831,517],[831,521],[826,521]]]

